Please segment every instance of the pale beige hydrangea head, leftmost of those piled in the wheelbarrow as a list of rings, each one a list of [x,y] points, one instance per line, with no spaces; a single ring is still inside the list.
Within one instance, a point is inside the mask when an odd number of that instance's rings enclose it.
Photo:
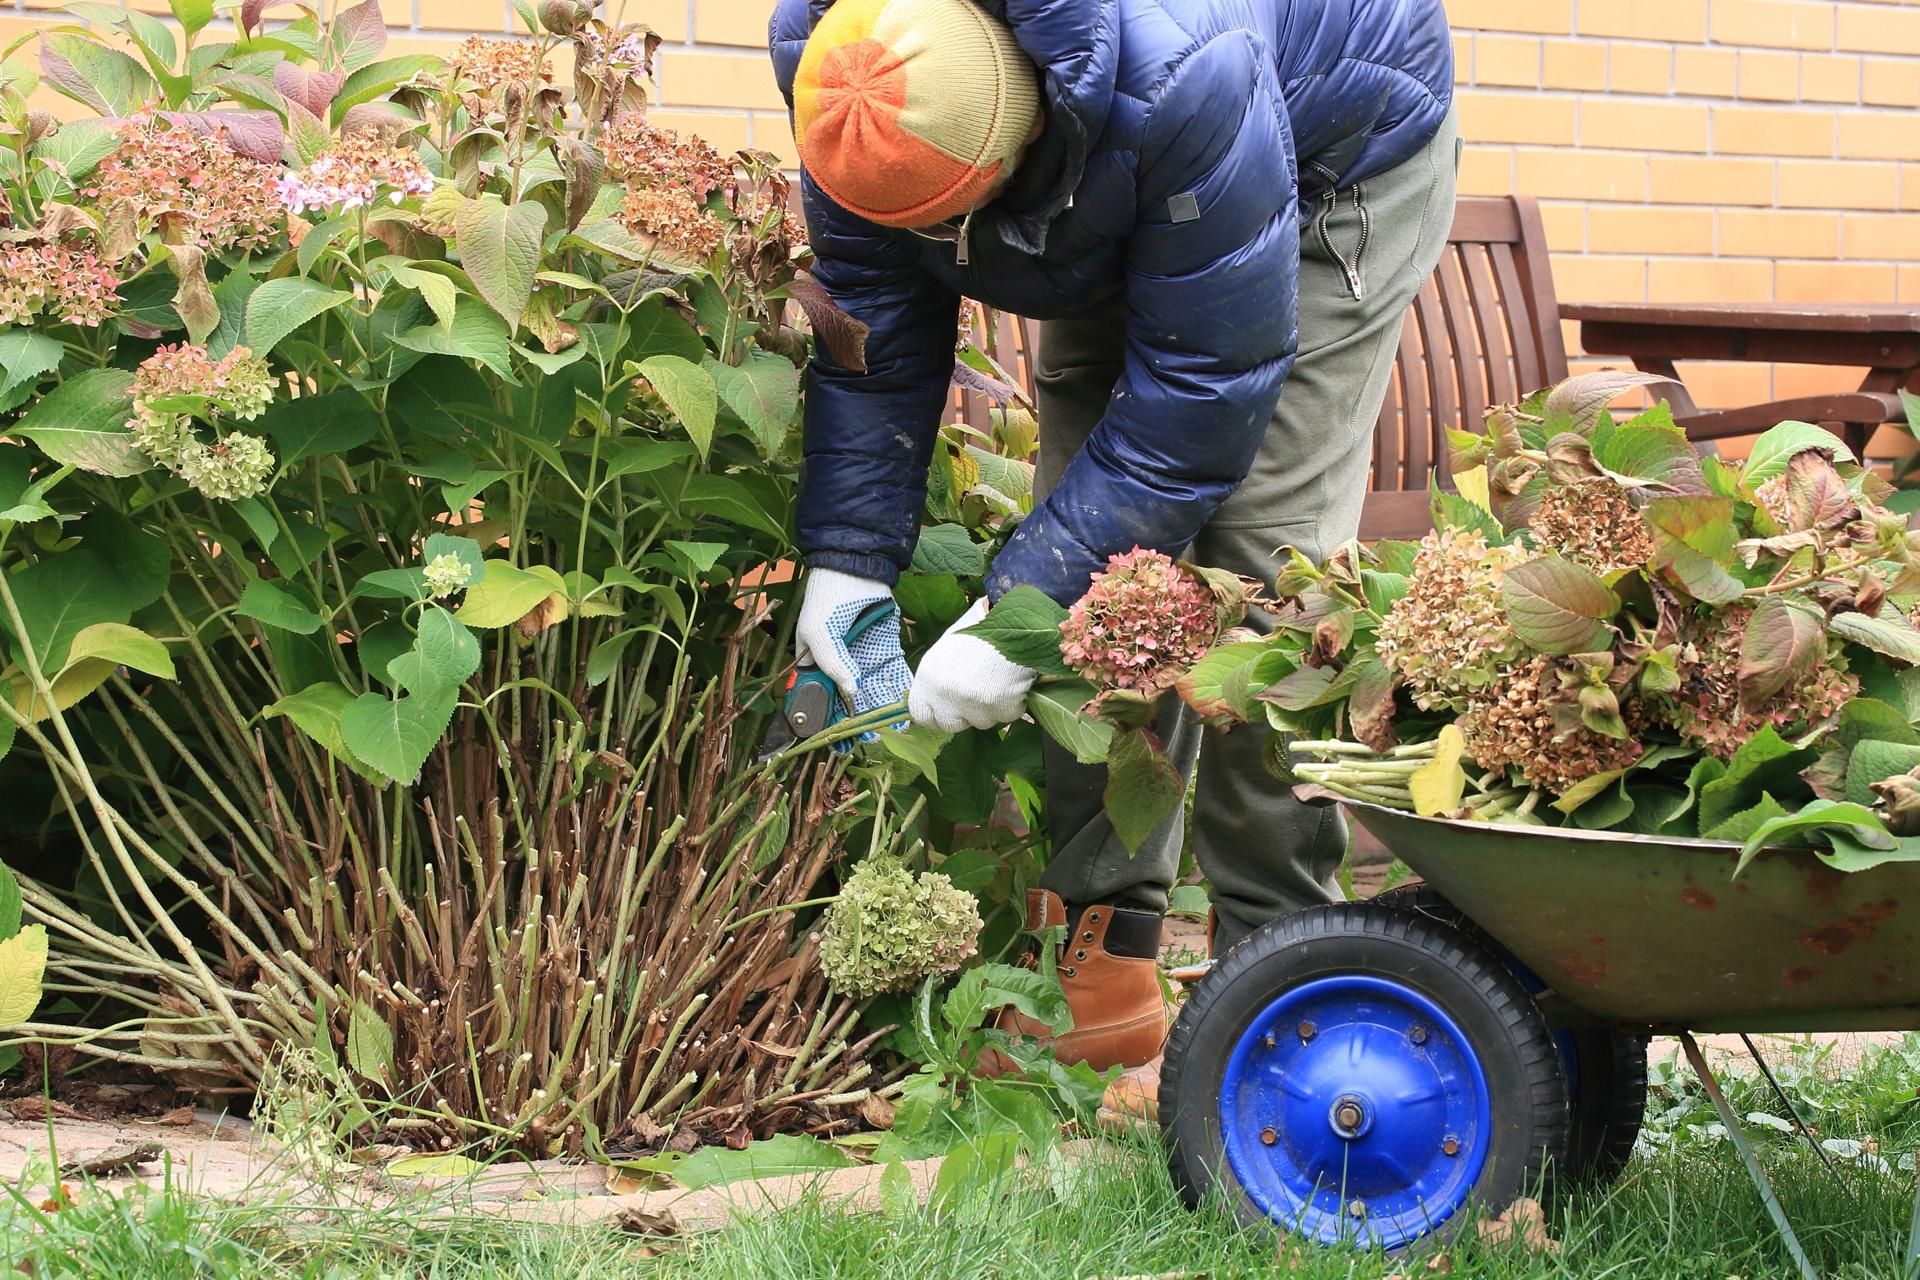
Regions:
[[[1423,708],[1461,710],[1500,668],[1526,656],[1500,597],[1501,580],[1523,558],[1471,530],[1421,539],[1407,593],[1380,622],[1375,649]]]

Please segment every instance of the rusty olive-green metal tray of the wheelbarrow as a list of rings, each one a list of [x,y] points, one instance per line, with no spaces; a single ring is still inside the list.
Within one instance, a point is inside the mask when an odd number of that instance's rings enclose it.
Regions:
[[[1920,1027],[1920,862],[1348,810],[1549,988],[1549,1021],[1682,1031]],[[1553,1004],[1565,1004],[1557,1011]]]

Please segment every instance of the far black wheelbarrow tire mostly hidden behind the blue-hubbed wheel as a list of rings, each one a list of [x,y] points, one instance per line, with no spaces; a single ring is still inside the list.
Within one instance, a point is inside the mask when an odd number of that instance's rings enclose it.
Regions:
[[[1467,919],[1432,885],[1396,885],[1373,900],[1448,923],[1509,965],[1513,963],[1500,942]],[[1576,1079],[1569,1088],[1563,1173],[1576,1184],[1603,1186],[1626,1169],[1647,1115],[1647,1038],[1605,1027],[1578,1027],[1571,1034]]]

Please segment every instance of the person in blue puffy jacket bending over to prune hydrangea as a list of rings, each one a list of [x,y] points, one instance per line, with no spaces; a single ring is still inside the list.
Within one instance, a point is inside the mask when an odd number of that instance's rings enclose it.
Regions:
[[[797,639],[856,712],[910,683],[939,729],[1016,720],[1035,674],[962,633],[1016,585],[1068,604],[1137,545],[1271,580],[1279,547],[1357,533],[1402,317],[1453,219],[1440,0],[780,0],[770,48],[814,273],[872,330],[862,372],[814,355],[797,514]],[[1041,499],[908,676],[897,626],[841,637],[912,558],[962,297],[1043,320]],[[1212,946],[1338,898],[1338,814],[1265,773],[1261,735],[1202,741],[1165,702]],[[1071,931],[1056,1048],[1100,1069],[1160,1054],[1183,837],[1175,816],[1129,854],[1104,785],[1048,748],[1029,896],[1029,925]]]

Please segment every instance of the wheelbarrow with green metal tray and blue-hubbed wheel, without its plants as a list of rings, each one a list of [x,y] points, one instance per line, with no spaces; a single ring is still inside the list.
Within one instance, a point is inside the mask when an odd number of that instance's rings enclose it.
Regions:
[[[1676,1034],[1818,1280],[1692,1032],[1920,1027],[1920,864],[1774,848],[1736,879],[1718,841],[1348,810],[1425,885],[1273,921],[1194,986],[1160,1092],[1188,1201],[1323,1244],[1448,1238],[1619,1173],[1645,1038]]]

